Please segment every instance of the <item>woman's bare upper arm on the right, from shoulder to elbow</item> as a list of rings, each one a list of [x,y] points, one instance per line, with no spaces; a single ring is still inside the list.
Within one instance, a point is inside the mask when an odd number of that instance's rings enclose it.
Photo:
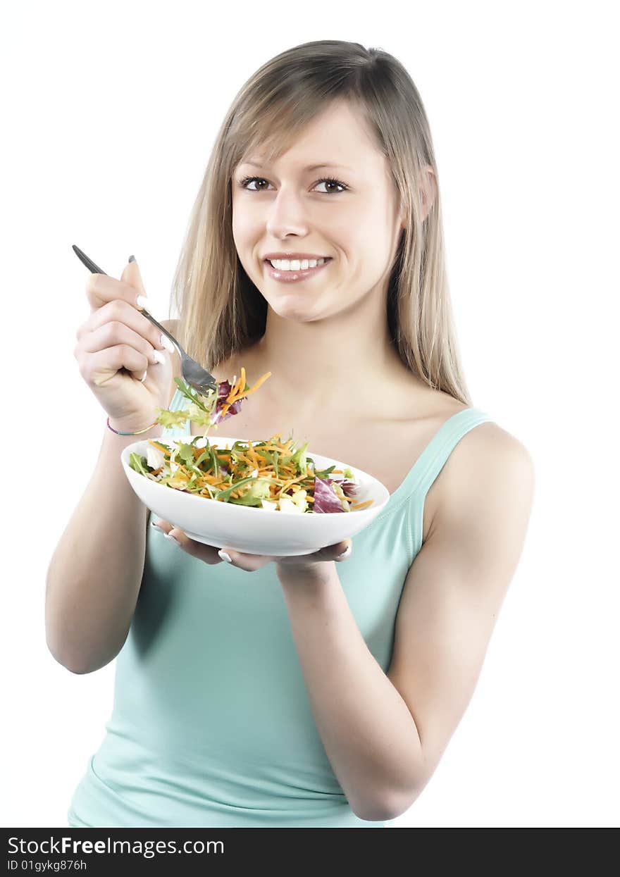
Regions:
[[[405,582],[388,668],[424,756],[409,804],[431,779],[474,694],[534,498],[531,454],[496,424],[468,433],[453,457],[457,452],[445,502]]]

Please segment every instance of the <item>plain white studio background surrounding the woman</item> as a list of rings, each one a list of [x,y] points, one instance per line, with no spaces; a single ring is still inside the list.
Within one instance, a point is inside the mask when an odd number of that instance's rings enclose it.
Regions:
[[[396,826],[618,824],[618,69],[611,3],[11,4],[0,35],[4,721],[0,824],[66,826],[115,664],[46,648],[46,568],[105,417],[78,372],[76,244],[155,317],[217,127],[265,61],[379,46],[431,122],[474,405],[537,488],[474,697]],[[403,10],[407,9],[407,21]]]

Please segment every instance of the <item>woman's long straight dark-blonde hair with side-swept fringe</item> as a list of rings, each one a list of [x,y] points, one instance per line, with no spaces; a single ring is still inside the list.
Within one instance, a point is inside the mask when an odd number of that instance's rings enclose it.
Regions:
[[[264,334],[267,302],[246,275],[232,238],[233,170],[256,146],[267,161],[274,160],[328,102],[342,99],[362,111],[405,206],[406,228],[388,283],[390,337],[411,372],[471,405],[448,291],[438,171],[424,105],[400,61],[360,43],[319,39],[294,46],[267,61],[239,90],[217,132],[175,271],[170,317],[176,306],[179,341],[213,368]],[[427,166],[435,193],[423,218]]]

